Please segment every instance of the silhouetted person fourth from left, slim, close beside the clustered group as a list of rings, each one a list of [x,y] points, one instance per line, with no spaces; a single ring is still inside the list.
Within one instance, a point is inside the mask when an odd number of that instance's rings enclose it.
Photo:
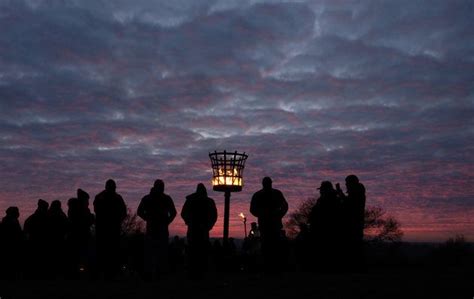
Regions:
[[[94,214],[89,209],[89,194],[77,189],[77,197],[68,201],[69,220],[69,267],[70,274],[77,276],[81,270],[89,268],[88,251]]]

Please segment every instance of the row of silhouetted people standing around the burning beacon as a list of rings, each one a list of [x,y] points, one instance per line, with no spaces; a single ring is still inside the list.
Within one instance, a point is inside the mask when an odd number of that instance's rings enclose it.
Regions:
[[[361,267],[364,228],[365,188],[355,175],[346,178],[347,192],[324,181],[320,197],[311,210],[308,225],[297,237],[296,253],[311,269]],[[19,223],[17,207],[9,207],[0,224],[0,274],[3,279],[92,278],[113,279],[127,269],[140,269],[145,280],[156,279],[178,268],[187,268],[199,278],[209,267],[209,256],[216,270],[263,270],[278,273],[285,268],[288,242],[282,219],[288,203],[280,190],[265,177],[262,189],[251,199],[250,212],[258,223],[244,239],[238,254],[233,238],[211,244],[209,232],[217,221],[215,202],[200,183],[186,196],[181,217],[187,226],[186,243],[179,237],[170,242],[168,227],[177,215],[165,184],[156,180],[138,206],[137,215],[146,222],[143,246],[128,250],[124,259],[122,240],[127,207],[116,184],[108,180],[105,189],[89,209],[89,194],[82,189],[67,202],[48,204],[39,199],[37,209]],[[130,237],[130,236],[129,236]],[[133,242],[134,240],[130,240]],[[140,240],[135,240],[140,242]]]

